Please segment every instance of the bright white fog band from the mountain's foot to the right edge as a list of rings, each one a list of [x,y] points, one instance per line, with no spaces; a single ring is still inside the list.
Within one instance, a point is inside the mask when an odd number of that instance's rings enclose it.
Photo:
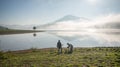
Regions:
[[[120,23],[120,14],[108,14],[100,17],[96,17],[93,20],[86,21],[64,21],[64,22],[56,22],[43,29],[47,30],[81,30],[86,28],[94,27],[95,25],[104,25],[106,23]]]

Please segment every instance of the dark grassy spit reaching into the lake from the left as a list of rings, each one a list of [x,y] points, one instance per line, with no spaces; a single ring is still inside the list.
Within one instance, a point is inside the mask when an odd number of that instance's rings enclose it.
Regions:
[[[21,34],[21,33],[32,33],[32,32],[43,32],[43,31],[34,31],[34,30],[0,30],[0,35],[5,34]]]

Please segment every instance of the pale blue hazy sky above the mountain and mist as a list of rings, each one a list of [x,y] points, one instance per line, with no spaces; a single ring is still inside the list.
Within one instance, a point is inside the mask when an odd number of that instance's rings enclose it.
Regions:
[[[65,15],[120,14],[120,0],[0,0],[0,24],[46,24]]]

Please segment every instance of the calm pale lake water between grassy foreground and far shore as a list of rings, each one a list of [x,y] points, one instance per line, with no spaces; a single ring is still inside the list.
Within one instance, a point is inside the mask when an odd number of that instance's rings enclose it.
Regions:
[[[74,47],[120,47],[120,30],[79,30],[79,31],[47,31],[39,33],[0,35],[0,50],[15,51],[30,48],[56,47],[61,40]]]

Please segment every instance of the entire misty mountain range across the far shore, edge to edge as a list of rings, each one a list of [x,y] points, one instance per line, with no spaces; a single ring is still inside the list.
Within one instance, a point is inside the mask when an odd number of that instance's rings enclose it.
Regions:
[[[94,19],[95,20],[95,19]],[[98,20],[99,21],[99,20]],[[96,28],[96,29],[120,29],[120,22],[107,22],[95,24],[91,20],[84,17],[77,17],[73,15],[66,15],[58,20],[49,22],[44,25],[1,25],[1,29],[32,29],[36,26],[40,30],[79,30],[84,28]]]

